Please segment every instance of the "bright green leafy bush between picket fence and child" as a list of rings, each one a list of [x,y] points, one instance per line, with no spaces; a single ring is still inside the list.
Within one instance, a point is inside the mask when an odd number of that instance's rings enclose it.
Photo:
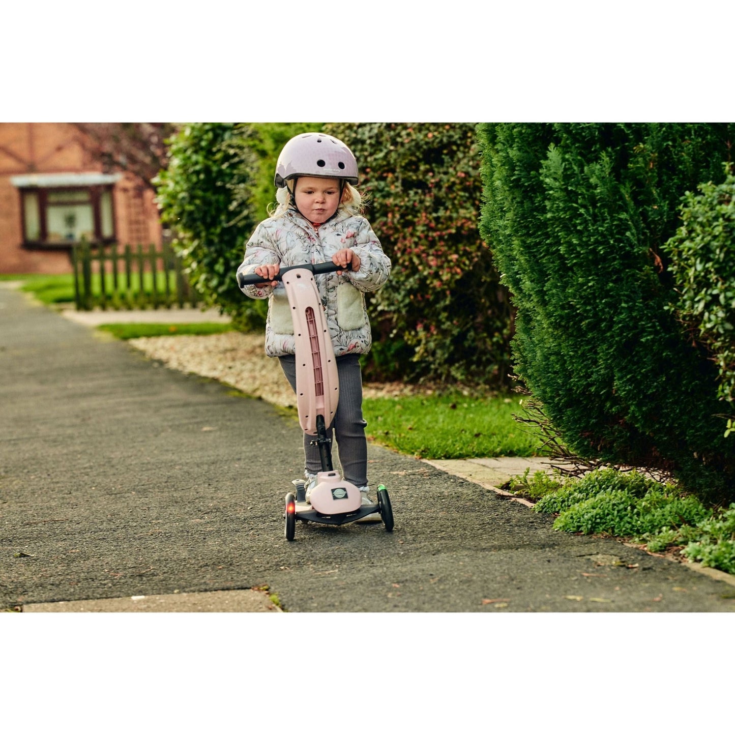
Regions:
[[[154,184],[190,282],[238,329],[265,329],[265,303],[244,298],[234,270],[257,221],[251,207],[257,156],[243,123],[190,123],[168,141],[168,168]]]

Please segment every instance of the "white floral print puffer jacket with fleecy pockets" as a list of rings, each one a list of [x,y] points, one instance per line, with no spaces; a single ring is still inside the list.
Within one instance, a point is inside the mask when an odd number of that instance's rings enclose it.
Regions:
[[[282,266],[331,261],[342,248],[351,248],[360,259],[358,271],[323,273],[315,276],[327,326],[336,356],[370,351],[370,323],[365,309],[365,292],[378,290],[390,275],[390,259],[383,252],[370,223],[342,207],[331,220],[315,229],[306,218],[290,209],[282,217],[262,221],[245,248],[245,259],[237,273],[252,273],[259,265]],[[270,357],[295,354],[293,320],[286,290],[245,286],[251,298],[268,298],[265,324],[265,354]]]

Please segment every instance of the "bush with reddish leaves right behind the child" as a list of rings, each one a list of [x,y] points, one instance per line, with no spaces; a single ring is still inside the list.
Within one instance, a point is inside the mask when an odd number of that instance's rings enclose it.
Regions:
[[[470,123],[324,127],[350,146],[368,219],[392,261],[368,305],[373,379],[501,384],[511,307],[478,230],[480,154]]]

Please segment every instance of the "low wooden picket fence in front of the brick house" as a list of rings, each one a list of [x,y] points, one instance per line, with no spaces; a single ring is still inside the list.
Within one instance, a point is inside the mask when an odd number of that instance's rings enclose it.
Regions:
[[[171,245],[90,245],[71,254],[76,308],[159,309],[197,306],[198,295]]]

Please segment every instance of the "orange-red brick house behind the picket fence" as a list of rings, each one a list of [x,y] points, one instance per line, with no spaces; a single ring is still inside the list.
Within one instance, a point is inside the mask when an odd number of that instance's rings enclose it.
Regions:
[[[154,193],[71,123],[0,123],[0,273],[71,273],[71,248],[161,244]]]

